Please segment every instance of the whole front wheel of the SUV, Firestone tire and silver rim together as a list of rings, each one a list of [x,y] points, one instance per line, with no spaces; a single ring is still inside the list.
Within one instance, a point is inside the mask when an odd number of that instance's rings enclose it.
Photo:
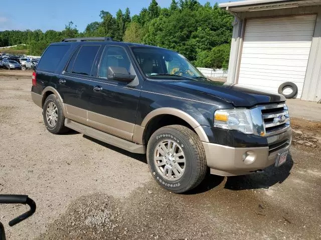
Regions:
[[[147,162],[158,184],[177,193],[198,186],[207,171],[202,141],[182,125],[165,126],[151,135]]]

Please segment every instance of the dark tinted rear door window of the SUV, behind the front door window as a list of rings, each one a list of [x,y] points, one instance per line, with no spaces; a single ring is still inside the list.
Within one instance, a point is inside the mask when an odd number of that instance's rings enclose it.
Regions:
[[[99,47],[99,45],[83,45],[79,50],[72,72],[90,75]]]

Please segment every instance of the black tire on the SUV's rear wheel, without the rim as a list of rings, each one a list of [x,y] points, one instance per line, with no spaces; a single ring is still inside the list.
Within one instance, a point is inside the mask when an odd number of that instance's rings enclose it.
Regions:
[[[57,107],[57,122],[55,125],[51,125],[47,120],[47,108],[51,102],[53,102],[54,105],[56,105]],[[65,116],[63,112],[63,106],[61,102],[58,101],[57,96],[55,96],[54,94],[49,95],[45,100],[45,103],[43,106],[43,117],[44,117],[46,128],[51,133],[61,134],[69,130],[69,128],[65,126]]]

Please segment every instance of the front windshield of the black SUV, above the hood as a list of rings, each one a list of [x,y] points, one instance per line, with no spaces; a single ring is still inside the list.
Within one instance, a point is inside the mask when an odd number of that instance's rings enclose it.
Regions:
[[[162,48],[132,47],[141,70],[148,77],[177,75],[189,78],[205,78],[183,55]]]

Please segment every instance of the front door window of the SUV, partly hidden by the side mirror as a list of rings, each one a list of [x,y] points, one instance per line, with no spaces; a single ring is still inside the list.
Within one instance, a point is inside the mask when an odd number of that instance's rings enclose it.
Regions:
[[[124,48],[120,46],[107,46],[104,49],[98,76],[107,77],[109,66],[125,67],[128,72],[131,72],[131,63]]]

